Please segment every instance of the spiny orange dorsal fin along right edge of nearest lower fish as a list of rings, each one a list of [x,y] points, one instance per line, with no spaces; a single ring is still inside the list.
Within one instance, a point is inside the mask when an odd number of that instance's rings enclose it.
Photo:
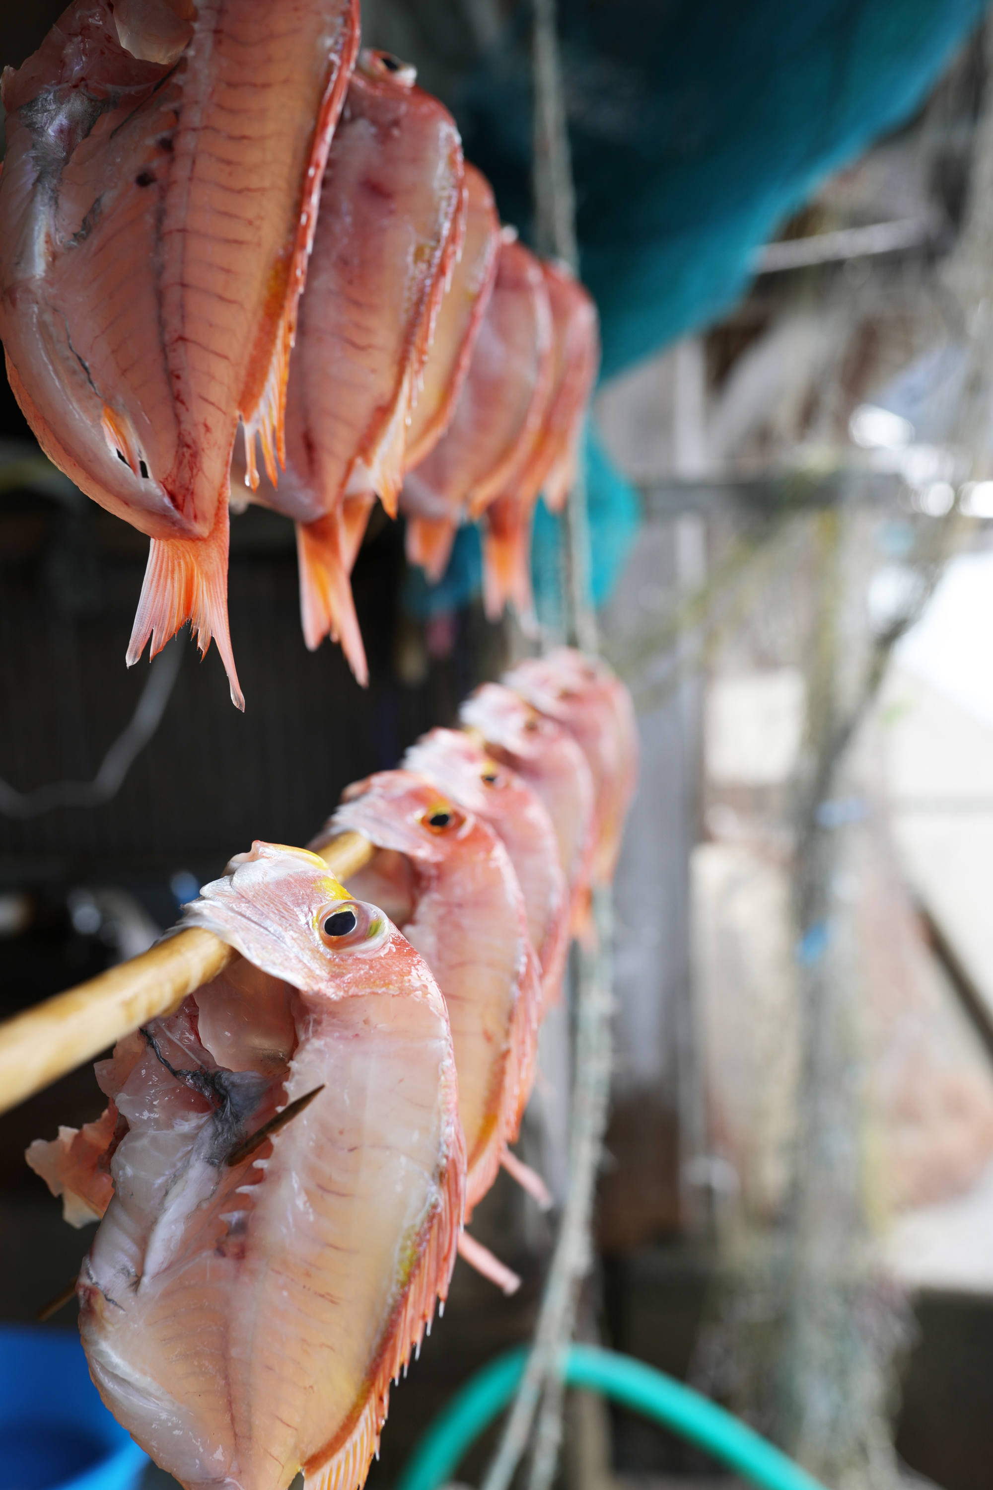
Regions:
[[[390,1381],[430,1334],[435,1305],[444,1310],[456,1265],[464,1204],[466,1149],[462,1123],[451,1126],[451,1146],[438,1177],[438,1202],[414,1244],[418,1261],[411,1268],[380,1353],[368,1396],[344,1441],[319,1450],[304,1465],[305,1490],[356,1490],[365,1481],[378,1450],[380,1430],[390,1405]]]

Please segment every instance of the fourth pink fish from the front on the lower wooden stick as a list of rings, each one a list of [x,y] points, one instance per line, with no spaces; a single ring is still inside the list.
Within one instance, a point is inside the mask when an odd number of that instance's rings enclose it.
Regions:
[[[572,928],[578,930],[597,846],[593,776],[584,752],[567,730],[499,682],[476,688],[462,705],[459,720],[479,733],[487,754],[523,776],[545,803],[569,884]]]

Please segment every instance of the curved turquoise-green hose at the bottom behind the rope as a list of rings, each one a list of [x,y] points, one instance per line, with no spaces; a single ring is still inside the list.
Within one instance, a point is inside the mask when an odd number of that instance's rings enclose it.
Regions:
[[[527,1350],[509,1350],[478,1371],[427,1429],[396,1490],[438,1490],[479,1433],[509,1407]],[[762,1490],[823,1490],[823,1486],[764,1438],[691,1387],[630,1356],[597,1345],[570,1345],[566,1384],[600,1392],[664,1423]]]

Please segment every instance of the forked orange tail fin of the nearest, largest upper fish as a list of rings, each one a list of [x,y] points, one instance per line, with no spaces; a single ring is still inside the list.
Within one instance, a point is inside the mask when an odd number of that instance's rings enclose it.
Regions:
[[[201,657],[211,636],[231,684],[231,702],[244,711],[244,694],[231,651],[228,630],[228,498],[217,502],[214,526],[205,538],[152,538],[127,651],[132,668],[152,638],[150,656],[162,651],[180,626],[191,623]]]

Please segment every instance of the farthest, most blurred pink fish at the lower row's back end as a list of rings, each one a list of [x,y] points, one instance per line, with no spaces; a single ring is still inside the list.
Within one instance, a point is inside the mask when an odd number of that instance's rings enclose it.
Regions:
[[[594,882],[609,884],[637,785],[639,739],[631,694],[603,660],[572,647],[527,657],[505,673],[503,682],[569,730],[587,757],[597,803]]]

